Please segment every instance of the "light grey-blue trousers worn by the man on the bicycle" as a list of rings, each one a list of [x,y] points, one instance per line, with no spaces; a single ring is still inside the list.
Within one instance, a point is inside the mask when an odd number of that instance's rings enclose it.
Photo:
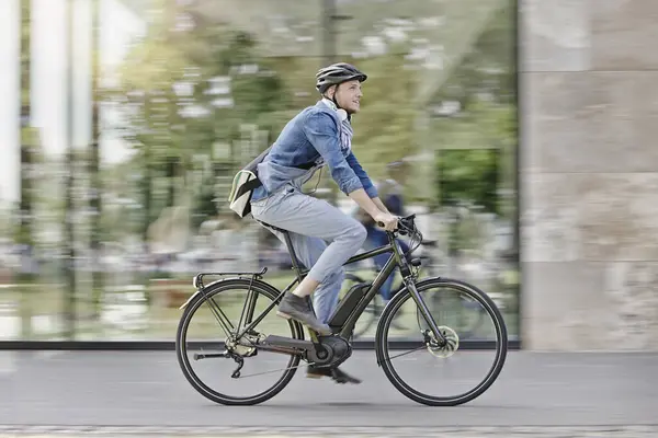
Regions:
[[[320,283],[313,293],[318,320],[327,323],[338,304],[344,279],[342,265],[356,254],[366,238],[365,228],[322,199],[300,192],[293,183],[251,204],[254,219],[287,230],[297,260]],[[282,233],[268,228],[282,242]]]

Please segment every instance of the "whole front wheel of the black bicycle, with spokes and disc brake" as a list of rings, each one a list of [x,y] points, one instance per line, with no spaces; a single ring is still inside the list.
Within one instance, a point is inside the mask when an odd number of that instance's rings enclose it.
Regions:
[[[390,300],[379,320],[377,360],[393,385],[418,403],[467,403],[487,391],[502,370],[508,350],[502,315],[485,292],[464,281],[429,278],[417,283],[416,289],[447,343],[439,345],[405,288]],[[400,312],[411,330],[398,334],[392,330],[392,322]],[[475,333],[474,321],[478,322]],[[460,344],[460,333],[466,331],[469,346],[475,348]],[[400,343],[400,337],[405,342]],[[402,351],[396,350],[399,345]]]

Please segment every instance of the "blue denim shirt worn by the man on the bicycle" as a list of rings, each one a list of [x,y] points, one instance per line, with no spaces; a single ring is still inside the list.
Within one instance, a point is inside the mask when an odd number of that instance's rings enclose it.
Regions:
[[[325,164],[345,195],[363,188],[371,198],[377,197],[376,187],[350,145],[340,140],[340,129],[337,112],[322,101],[304,108],[286,124],[270,153],[258,165],[258,177],[263,185],[253,191],[251,201],[270,196],[288,182],[303,184]],[[295,168],[308,163],[315,164],[313,169]]]

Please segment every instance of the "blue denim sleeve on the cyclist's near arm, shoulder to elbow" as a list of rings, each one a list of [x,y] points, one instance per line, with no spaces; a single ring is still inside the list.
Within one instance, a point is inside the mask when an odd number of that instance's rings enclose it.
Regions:
[[[333,118],[325,113],[308,114],[304,124],[304,134],[313,147],[325,159],[331,177],[342,193],[363,188],[361,180],[340,151],[338,126]]]

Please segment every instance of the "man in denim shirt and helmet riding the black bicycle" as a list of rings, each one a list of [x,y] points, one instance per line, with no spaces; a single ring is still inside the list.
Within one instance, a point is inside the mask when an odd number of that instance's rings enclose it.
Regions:
[[[310,269],[292,292],[285,293],[277,314],[296,320],[319,335],[329,335],[327,323],[338,306],[344,279],[342,265],[361,249],[366,230],[329,203],[304,194],[302,185],[327,164],[341,192],[375,222],[393,231],[397,229],[397,217],[378,198],[377,189],[352,152],[351,118],[360,110],[361,83],[367,76],[352,65],[339,62],[320,69],[316,78],[321,99],[286,124],[258,165],[262,185],[253,191],[251,214],[259,222],[287,230],[299,262]],[[300,169],[307,163],[313,163],[310,169]],[[270,231],[283,241],[281,233]],[[311,295],[313,309],[307,302]],[[327,369],[309,367],[307,376],[331,374]],[[343,381],[359,382],[344,372],[339,376]]]

